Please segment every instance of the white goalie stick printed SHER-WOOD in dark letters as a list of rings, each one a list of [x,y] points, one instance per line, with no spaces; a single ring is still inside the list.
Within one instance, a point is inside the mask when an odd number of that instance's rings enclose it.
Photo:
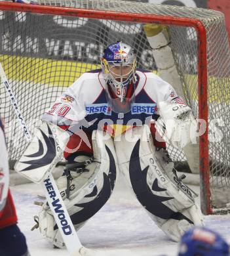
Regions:
[[[9,93],[12,106],[14,108],[14,111],[16,112],[18,121],[24,131],[24,135],[29,142],[32,139],[31,134],[29,133],[29,130],[26,126],[26,122],[24,121],[22,113],[18,108],[18,104],[12,93],[12,90],[10,89],[10,84],[7,79],[7,75],[5,74],[5,71],[3,70],[3,66],[1,65],[1,63],[0,77],[1,82],[5,85],[7,93]],[[69,251],[69,255],[79,256],[82,255],[81,253],[86,253],[87,249],[83,247],[83,245],[79,241],[77,232],[75,231],[73,223],[69,217],[69,213],[67,212],[66,205],[62,200],[62,196],[60,195],[60,192],[58,190],[58,187],[56,186],[56,182],[54,181],[51,172],[49,172],[49,176],[42,182],[42,184],[45,190],[48,205],[52,210],[56,224],[58,225],[60,233],[62,234],[62,238],[66,244],[66,248]]]

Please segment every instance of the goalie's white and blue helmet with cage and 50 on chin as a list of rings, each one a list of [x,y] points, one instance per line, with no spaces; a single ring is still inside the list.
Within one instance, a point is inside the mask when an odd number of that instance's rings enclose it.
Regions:
[[[134,49],[118,41],[109,45],[102,57],[102,70],[106,83],[111,87],[115,96],[123,102],[128,85],[135,83],[136,54]]]

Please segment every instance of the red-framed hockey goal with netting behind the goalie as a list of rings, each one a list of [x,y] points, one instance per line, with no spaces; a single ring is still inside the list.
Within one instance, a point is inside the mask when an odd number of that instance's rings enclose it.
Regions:
[[[230,58],[221,12],[114,0],[40,0],[39,5],[6,1],[0,2],[0,10],[0,60],[31,131],[79,75],[100,68],[109,43],[121,39],[132,45],[138,67],[155,69],[143,24],[168,26],[185,98],[195,116],[210,122],[199,137],[202,212],[212,213],[212,207],[230,202]],[[0,103],[14,161],[26,140],[3,85]],[[178,148],[168,150],[172,160],[186,160]]]

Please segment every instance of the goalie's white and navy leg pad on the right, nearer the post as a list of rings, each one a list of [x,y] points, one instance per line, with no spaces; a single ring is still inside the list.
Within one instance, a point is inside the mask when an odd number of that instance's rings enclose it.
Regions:
[[[178,241],[187,228],[202,224],[195,195],[172,172],[174,164],[164,150],[155,148],[149,127],[126,133],[115,142],[119,168],[151,219]]]

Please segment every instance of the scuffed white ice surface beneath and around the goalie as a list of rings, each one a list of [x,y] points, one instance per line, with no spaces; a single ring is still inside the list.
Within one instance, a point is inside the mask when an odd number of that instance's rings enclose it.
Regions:
[[[65,249],[53,249],[39,230],[31,231],[33,216],[40,207],[33,205],[42,194],[38,184],[23,184],[11,188],[18,211],[19,226],[27,238],[31,256],[67,256]],[[230,215],[208,216],[206,226],[220,232],[230,242]],[[126,184],[117,182],[107,204],[78,232],[86,247],[96,249],[100,256],[154,256],[177,254],[178,244],[151,221]],[[96,256],[95,255],[95,256]]]

